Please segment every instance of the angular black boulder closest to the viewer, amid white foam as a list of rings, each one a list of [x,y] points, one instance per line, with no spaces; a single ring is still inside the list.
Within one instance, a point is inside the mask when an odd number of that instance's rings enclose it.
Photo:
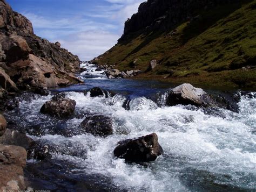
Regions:
[[[158,143],[156,133],[137,139],[120,141],[114,149],[114,156],[129,162],[150,162],[163,154],[163,148]]]

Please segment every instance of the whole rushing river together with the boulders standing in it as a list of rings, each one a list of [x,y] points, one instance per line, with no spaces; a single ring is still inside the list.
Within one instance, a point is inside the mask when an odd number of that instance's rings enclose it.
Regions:
[[[28,152],[25,187],[255,190],[254,92],[110,80],[97,66],[81,67],[86,84],[23,93],[4,113],[1,142]],[[46,103],[52,110],[43,112]]]

